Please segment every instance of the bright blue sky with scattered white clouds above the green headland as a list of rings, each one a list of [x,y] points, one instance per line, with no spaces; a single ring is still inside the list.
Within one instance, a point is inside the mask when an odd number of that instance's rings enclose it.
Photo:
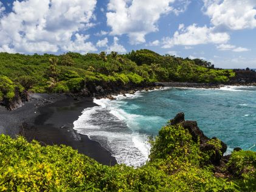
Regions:
[[[256,68],[255,0],[0,0],[0,52],[151,49]]]

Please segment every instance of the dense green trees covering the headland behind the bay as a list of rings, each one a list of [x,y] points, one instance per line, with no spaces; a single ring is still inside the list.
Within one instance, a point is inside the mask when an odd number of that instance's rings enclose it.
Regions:
[[[225,83],[234,75],[232,70],[214,69],[207,61],[163,56],[147,49],[126,55],[117,52],[109,55],[106,52],[86,55],[72,52],[64,55],[0,53],[0,77],[9,81],[9,90],[1,88],[0,98],[13,97],[11,84],[24,87],[26,91],[63,93],[78,92],[85,83]]]

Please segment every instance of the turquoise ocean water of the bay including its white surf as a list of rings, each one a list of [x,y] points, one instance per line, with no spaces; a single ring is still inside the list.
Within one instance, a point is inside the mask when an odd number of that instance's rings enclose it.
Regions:
[[[108,149],[118,163],[140,166],[148,160],[148,136],[178,112],[196,120],[208,137],[227,143],[227,153],[256,143],[256,87],[226,86],[221,89],[165,88],[137,92],[117,100],[94,100],[74,122],[74,129]],[[251,150],[256,151],[256,147]]]

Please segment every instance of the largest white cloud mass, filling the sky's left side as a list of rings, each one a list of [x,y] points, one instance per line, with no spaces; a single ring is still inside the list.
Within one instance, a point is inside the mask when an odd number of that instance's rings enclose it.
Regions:
[[[0,18],[0,48],[21,53],[94,51],[81,30],[93,26],[96,0],[27,0],[13,2]]]

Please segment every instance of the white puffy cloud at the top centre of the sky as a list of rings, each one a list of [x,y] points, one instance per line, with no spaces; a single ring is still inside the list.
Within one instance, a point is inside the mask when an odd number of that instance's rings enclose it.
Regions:
[[[111,35],[127,34],[131,44],[145,43],[145,35],[158,30],[157,21],[161,15],[177,10],[171,7],[173,2],[175,0],[110,0],[106,17]]]

